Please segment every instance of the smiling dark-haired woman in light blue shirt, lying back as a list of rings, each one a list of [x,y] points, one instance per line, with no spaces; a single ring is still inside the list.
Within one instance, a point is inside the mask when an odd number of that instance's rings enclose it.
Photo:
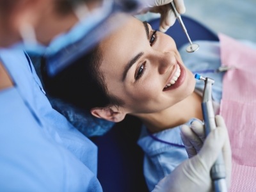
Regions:
[[[120,122],[129,114],[141,119],[148,132],[138,142],[150,190],[188,158],[179,125],[202,120],[202,98],[173,39],[147,22],[131,17],[91,54],[44,81],[54,97],[99,118]]]

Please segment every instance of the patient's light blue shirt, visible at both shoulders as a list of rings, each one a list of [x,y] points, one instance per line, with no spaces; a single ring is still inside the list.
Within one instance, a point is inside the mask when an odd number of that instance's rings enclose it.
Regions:
[[[219,42],[198,41],[195,43],[200,45],[200,49],[196,52],[186,52],[187,45],[180,48],[182,60],[191,71],[196,72],[198,70],[217,69],[220,67]],[[212,86],[212,99],[220,103],[223,73],[201,73],[201,75],[211,77],[215,80]],[[203,89],[204,82],[196,81],[196,90],[202,92]],[[195,119],[189,120],[187,124],[189,125],[193,120]],[[143,172],[148,189],[152,191],[159,180],[170,174],[182,161],[188,159],[188,154],[184,147],[175,146],[183,145],[180,138],[180,125],[153,134],[156,138],[168,141],[173,145],[152,139],[145,129],[146,128],[143,127],[138,145],[140,145],[145,152]]]

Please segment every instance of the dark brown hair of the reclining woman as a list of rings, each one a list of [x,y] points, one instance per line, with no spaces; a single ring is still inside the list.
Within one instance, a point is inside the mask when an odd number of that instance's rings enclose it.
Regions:
[[[51,97],[62,99],[77,108],[90,110],[109,105],[122,106],[122,100],[108,93],[104,74],[99,69],[101,61],[100,49],[95,47],[54,77],[47,76],[43,67],[45,90]]]

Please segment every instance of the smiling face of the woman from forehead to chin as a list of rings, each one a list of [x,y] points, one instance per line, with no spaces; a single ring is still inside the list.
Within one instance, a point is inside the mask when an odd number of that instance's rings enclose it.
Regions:
[[[173,39],[131,17],[100,44],[108,92],[127,113],[155,113],[193,93],[195,78]]]

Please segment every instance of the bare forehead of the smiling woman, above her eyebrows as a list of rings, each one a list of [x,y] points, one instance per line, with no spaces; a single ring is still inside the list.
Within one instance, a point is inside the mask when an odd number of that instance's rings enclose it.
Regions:
[[[147,35],[143,23],[131,17],[125,24],[100,44],[102,63],[100,68],[105,76],[121,78],[125,65],[136,54],[143,51]]]

